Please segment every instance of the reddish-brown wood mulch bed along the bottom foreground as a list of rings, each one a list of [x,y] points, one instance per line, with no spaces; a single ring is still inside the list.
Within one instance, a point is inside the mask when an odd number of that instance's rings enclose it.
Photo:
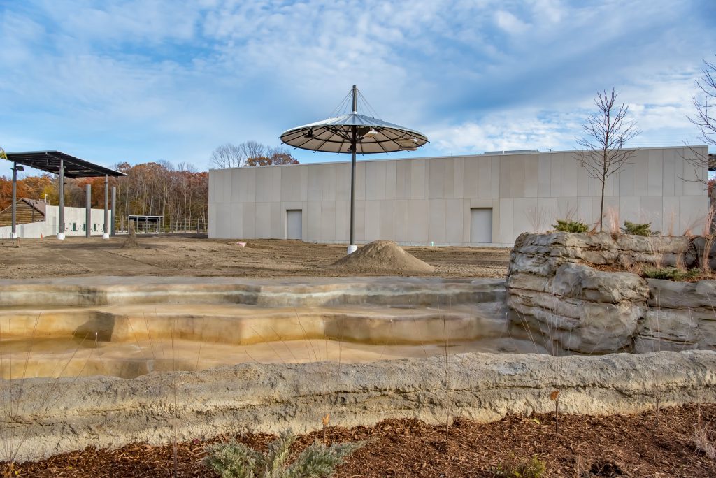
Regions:
[[[716,442],[716,405],[662,409],[630,416],[510,415],[490,424],[456,419],[445,441],[445,426],[414,419],[384,420],[354,429],[329,427],[331,442],[367,440],[339,468],[337,477],[494,477],[495,469],[538,457],[546,477],[716,477],[716,462],[697,449],[694,430],[707,426]],[[299,452],[321,438],[301,436]],[[19,477],[216,477],[201,459],[209,443],[229,436],[177,446],[132,444],[115,450],[85,449],[43,462],[16,466]],[[238,435],[262,449],[273,437]]]

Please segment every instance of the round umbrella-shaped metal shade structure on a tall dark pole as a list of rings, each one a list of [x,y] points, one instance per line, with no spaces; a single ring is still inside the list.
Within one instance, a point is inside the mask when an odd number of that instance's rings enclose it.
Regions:
[[[359,114],[358,87],[353,85],[352,113],[291,128],[281,135],[286,145],[309,151],[350,153],[351,220],[348,253],[357,249],[354,238],[356,155],[415,151],[427,143],[427,136],[410,128]]]

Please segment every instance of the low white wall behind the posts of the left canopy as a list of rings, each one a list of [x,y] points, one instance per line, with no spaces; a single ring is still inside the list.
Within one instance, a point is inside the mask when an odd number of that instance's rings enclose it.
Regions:
[[[57,235],[57,224],[59,218],[58,206],[45,206],[45,220],[38,223],[18,224],[16,232],[21,239],[39,238],[40,235],[47,237]],[[112,223],[112,210],[109,211],[110,224]],[[64,234],[84,236],[84,208],[64,208]],[[92,235],[102,235],[102,226],[105,224],[105,210],[92,209]],[[73,230],[74,226],[74,230]],[[95,228],[97,230],[95,230]],[[12,232],[11,226],[0,228],[0,238],[9,238]]]

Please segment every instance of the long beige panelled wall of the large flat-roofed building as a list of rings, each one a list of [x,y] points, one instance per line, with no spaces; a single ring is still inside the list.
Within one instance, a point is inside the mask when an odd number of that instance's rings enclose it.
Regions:
[[[707,154],[706,147],[694,148]],[[686,147],[639,150],[606,182],[604,208],[652,228],[700,229],[707,175]],[[360,159],[360,158],[359,158]],[[286,238],[286,210],[303,211],[304,240],[347,243],[350,162],[241,167],[209,172],[210,238]],[[493,245],[511,246],[524,231],[546,230],[572,215],[599,218],[600,182],[574,152],[538,152],[403,160],[359,160],[357,243],[470,245],[470,208],[492,208]]]

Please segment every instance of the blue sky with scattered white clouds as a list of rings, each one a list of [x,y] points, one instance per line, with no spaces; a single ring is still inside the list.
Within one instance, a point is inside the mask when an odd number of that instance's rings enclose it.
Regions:
[[[695,144],[715,24],[713,0],[0,0],[0,145],[205,170],[218,145],[328,117],[352,84],[430,139],[395,157],[574,149],[611,87],[632,145]]]

